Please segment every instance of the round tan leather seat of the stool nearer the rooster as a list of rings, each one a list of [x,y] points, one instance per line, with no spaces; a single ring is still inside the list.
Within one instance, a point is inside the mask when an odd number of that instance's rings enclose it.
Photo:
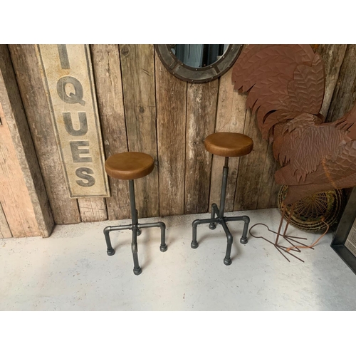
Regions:
[[[207,151],[216,156],[240,157],[252,151],[250,137],[236,132],[215,132],[204,140]]]

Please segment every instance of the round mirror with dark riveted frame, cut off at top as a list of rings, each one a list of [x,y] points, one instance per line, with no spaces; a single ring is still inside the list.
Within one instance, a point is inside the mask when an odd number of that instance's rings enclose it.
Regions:
[[[242,45],[155,45],[164,66],[179,79],[205,83],[223,75],[239,57]]]

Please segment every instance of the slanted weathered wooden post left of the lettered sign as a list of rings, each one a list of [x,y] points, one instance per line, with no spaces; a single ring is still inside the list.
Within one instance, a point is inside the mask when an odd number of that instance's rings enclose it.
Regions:
[[[6,45],[0,46],[0,102],[19,160],[21,175],[33,205],[39,233],[48,237],[54,226],[53,216]]]

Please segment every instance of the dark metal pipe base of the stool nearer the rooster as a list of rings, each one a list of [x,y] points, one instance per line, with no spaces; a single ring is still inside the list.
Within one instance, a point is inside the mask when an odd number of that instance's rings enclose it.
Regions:
[[[199,246],[197,242],[197,226],[200,224],[209,224],[209,229],[216,229],[216,224],[220,224],[226,234],[227,238],[227,247],[226,247],[226,255],[224,258],[224,264],[226,266],[231,265],[231,246],[233,243],[233,236],[226,225],[228,221],[244,221],[244,231],[242,232],[242,237],[240,239],[241,244],[247,244],[247,231],[248,231],[248,223],[250,222],[250,218],[248,216],[224,216],[224,208],[225,208],[225,197],[226,197],[226,185],[227,185],[227,176],[229,173],[229,157],[225,157],[225,164],[223,168],[223,177],[221,184],[221,196],[220,196],[220,209],[214,203],[211,205],[211,219],[197,219],[193,221],[193,239],[192,244],[190,245],[192,248],[197,248]]]

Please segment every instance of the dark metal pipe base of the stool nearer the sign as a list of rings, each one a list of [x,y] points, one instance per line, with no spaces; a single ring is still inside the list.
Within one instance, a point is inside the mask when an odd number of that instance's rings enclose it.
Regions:
[[[112,248],[111,241],[110,241],[110,231],[117,231],[117,230],[132,230],[132,256],[134,261],[134,269],[133,272],[136,276],[141,274],[142,269],[140,264],[138,263],[138,256],[137,256],[137,236],[140,236],[141,229],[150,228],[150,227],[159,227],[161,228],[161,246],[159,249],[164,252],[167,251],[166,245],[166,225],[162,221],[157,221],[157,223],[147,223],[147,224],[138,224],[138,217],[137,217],[137,210],[135,204],[135,186],[134,181],[129,181],[130,187],[130,205],[131,205],[131,219],[132,224],[130,225],[121,225],[121,226],[106,226],[104,229],[104,235],[106,240],[106,246],[108,247],[107,253],[108,256],[112,256],[115,254],[114,248]]]

